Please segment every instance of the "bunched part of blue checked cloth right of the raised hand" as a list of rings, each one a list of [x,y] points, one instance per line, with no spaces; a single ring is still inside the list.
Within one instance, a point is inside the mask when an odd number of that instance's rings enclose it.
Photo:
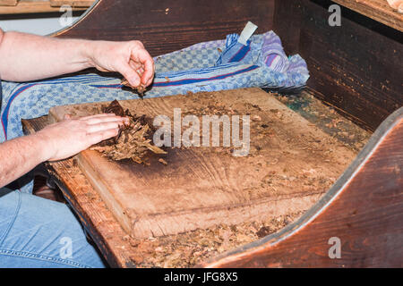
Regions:
[[[196,44],[158,57],[159,67],[150,96],[185,94],[188,91],[216,91],[231,88],[304,87],[309,78],[299,55],[287,57],[273,32],[256,35],[242,45],[237,34],[227,40]]]

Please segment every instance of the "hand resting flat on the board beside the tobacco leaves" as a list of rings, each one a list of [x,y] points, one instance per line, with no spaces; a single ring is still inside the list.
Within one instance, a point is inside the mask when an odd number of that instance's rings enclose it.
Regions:
[[[115,137],[119,126],[129,123],[115,114],[97,114],[48,125],[35,135],[44,142],[45,161],[73,156],[102,140]]]

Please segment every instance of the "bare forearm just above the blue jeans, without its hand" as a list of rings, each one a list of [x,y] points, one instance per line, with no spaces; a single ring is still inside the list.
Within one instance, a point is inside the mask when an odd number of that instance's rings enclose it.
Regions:
[[[0,144],[0,188],[47,161],[46,141],[33,134]]]

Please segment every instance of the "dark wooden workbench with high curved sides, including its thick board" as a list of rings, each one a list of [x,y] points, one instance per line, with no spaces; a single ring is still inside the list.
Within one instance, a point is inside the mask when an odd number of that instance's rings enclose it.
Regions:
[[[300,109],[289,100],[302,99],[259,88],[122,102],[150,115],[201,105],[248,111],[256,119],[251,120],[256,140],[249,157],[173,149],[167,166],[155,162],[149,169],[133,169],[90,150],[47,164],[110,265],[403,266],[402,17],[386,1],[335,2],[352,9],[342,6],[339,27],[329,25],[331,1],[101,0],[72,28],[56,33],[139,39],[155,56],[224,38],[253,21],[257,32],[273,29],[287,54],[302,55],[311,74],[297,96],[309,98]],[[49,117],[58,121],[65,113],[91,114],[99,108],[58,106]],[[23,125],[33,132],[47,120]],[[111,170],[120,177],[107,175]],[[141,181],[144,177],[149,181]],[[128,186],[125,178],[138,185]],[[160,188],[161,180],[167,188]],[[152,196],[139,195],[146,187]],[[135,201],[139,205],[133,210]],[[272,220],[278,218],[283,221],[275,229]],[[231,235],[245,227],[244,236],[251,229],[254,236],[234,244]],[[200,243],[181,248],[192,241]],[[178,257],[185,264],[177,264]]]

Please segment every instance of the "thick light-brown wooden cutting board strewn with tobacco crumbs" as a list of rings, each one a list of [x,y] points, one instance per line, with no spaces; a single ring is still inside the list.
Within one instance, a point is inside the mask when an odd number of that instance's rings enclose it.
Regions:
[[[64,114],[98,114],[107,104],[56,106],[50,109],[49,119],[59,122]],[[157,156],[150,156],[148,166],[110,161],[95,150],[76,156],[116,220],[134,237],[304,211],[356,156],[260,88],[120,104],[132,114],[150,117],[164,114],[172,119],[174,108],[181,108],[182,114],[200,118],[201,114],[241,118],[249,114],[251,119],[250,152],[244,157],[232,156],[231,147],[168,147],[167,165],[159,163]]]

